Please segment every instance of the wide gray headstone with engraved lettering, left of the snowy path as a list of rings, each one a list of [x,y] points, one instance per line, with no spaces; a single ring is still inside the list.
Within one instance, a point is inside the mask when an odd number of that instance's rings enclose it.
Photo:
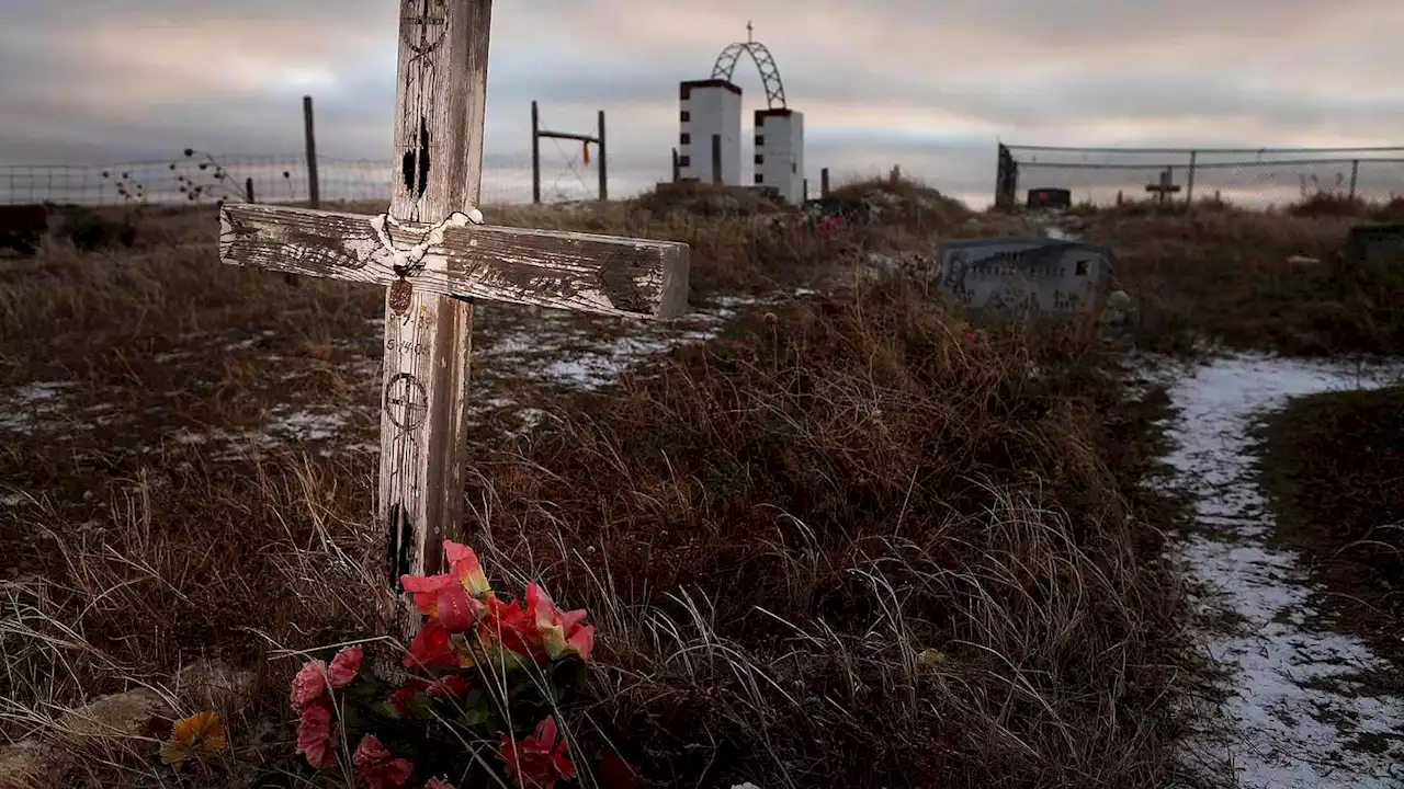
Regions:
[[[938,284],[1001,317],[1091,314],[1112,284],[1111,247],[1060,239],[963,239],[938,251]]]

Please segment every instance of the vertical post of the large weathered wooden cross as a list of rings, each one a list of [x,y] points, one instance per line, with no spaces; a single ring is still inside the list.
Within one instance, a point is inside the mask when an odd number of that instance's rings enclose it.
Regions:
[[[479,202],[491,15],[491,0],[402,0],[395,219],[435,225]],[[386,293],[376,514],[393,580],[437,573],[462,522],[472,333],[469,302]]]

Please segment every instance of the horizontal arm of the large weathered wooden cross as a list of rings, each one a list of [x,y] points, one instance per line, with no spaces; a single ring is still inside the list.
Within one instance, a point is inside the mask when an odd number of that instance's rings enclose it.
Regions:
[[[225,204],[219,257],[232,265],[392,285],[397,263],[376,234],[373,216],[258,204]],[[388,227],[397,250],[430,237],[431,226]],[[416,291],[643,319],[687,312],[688,246],[590,233],[491,225],[448,226]],[[438,271],[435,271],[439,268]]]

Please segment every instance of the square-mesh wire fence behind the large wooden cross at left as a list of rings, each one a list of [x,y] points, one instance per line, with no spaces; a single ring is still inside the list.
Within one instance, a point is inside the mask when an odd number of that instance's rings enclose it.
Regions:
[[[388,160],[317,157],[317,192],[323,201],[389,201]],[[0,205],[122,205],[215,202],[302,202],[309,198],[307,160],[288,156],[212,156],[191,152],[166,161],[119,164],[0,164]],[[576,163],[553,173],[542,167],[542,201],[594,199],[595,174]],[[532,199],[531,154],[483,157],[483,197],[489,204]]]

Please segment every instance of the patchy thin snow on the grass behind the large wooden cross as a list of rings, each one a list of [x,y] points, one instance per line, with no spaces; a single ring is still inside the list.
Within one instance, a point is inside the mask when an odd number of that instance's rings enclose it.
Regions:
[[[476,316],[470,361],[469,409],[475,425],[494,421],[497,428],[519,432],[541,424],[548,413],[519,404],[515,397],[535,390],[536,403],[550,393],[590,392],[618,380],[630,365],[691,343],[715,337],[724,324],[746,310],[764,310],[775,303],[812,295],[813,291],[778,293],[765,299],[726,296],[696,305],[671,323],[619,326],[609,321],[581,321],[564,310],[538,312],[480,309]],[[90,441],[102,453],[135,452],[157,455],[170,446],[201,446],[213,462],[258,458],[278,446],[303,444],[310,452],[375,453],[379,442],[376,396],[380,390],[380,320],[371,320],[366,337],[333,340],[343,352],[337,368],[351,382],[351,394],[333,396],[309,386],[314,362],[289,359],[260,350],[275,340],[263,330],[226,337],[219,347],[257,366],[246,382],[250,396],[271,403],[257,425],[190,424],[178,418],[183,397],[197,390],[152,392],[105,386],[102,399],[76,380],[31,382],[0,387],[0,441],[31,442]],[[191,336],[191,348],[211,344],[205,336]],[[369,347],[371,354],[362,348]],[[160,354],[157,364],[168,368],[208,364],[194,351]],[[198,379],[212,380],[201,371]],[[268,387],[267,394],[260,387]],[[542,400],[541,393],[546,393]],[[504,417],[508,420],[504,423]],[[515,427],[514,427],[515,425]],[[8,489],[0,484],[0,507],[13,507]]]

